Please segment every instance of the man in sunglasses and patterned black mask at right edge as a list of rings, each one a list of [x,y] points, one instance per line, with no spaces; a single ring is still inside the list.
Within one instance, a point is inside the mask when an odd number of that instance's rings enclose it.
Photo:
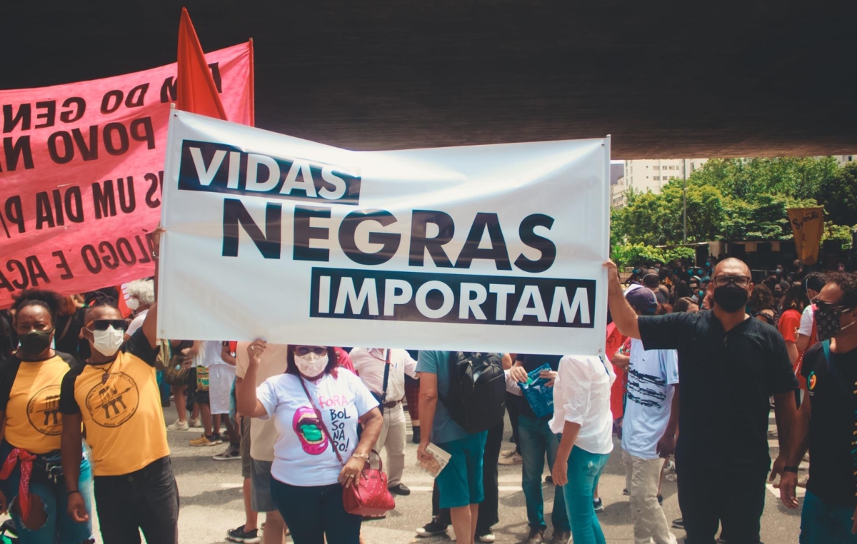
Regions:
[[[804,355],[807,392],[794,421],[780,498],[798,505],[798,463],[812,451],[800,542],[857,542],[857,278],[834,272],[816,302],[818,344]]]

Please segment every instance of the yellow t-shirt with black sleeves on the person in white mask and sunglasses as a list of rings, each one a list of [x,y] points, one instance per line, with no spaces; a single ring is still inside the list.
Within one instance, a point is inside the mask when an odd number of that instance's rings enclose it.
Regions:
[[[139,330],[112,363],[81,365],[63,378],[60,411],[81,414],[94,475],[128,474],[170,455],[154,368],[158,351]]]

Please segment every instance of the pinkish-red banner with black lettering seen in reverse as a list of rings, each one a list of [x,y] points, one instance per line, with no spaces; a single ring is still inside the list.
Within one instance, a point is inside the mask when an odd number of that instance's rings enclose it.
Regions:
[[[253,119],[249,44],[206,61],[226,116]],[[80,293],[154,273],[175,63],[0,91],[0,308],[28,287]]]

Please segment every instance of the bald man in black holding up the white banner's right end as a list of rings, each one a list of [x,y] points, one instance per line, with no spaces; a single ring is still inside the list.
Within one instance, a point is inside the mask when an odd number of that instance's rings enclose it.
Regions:
[[[718,523],[729,544],[759,541],[768,454],[769,396],[776,399],[781,451],[794,421],[797,380],[786,344],[744,308],[750,269],[737,259],[717,263],[709,285],[714,307],[697,314],[638,316],[626,302],[613,262],[610,313],[620,332],[646,350],[678,350],[681,396],[675,450],[679,505],[688,544],[714,544]],[[773,479],[785,457],[776,459]],[[729,469],[729,486],[724,486]]]

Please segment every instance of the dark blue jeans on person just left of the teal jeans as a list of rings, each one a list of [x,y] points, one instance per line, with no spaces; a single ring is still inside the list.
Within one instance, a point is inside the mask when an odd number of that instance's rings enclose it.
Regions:
[[[527,521],[530,527],[545,529],[547,524],[544,523],[544,497],[542,496],[544,457],[547,454],[548,467],[553,469],[556,450],[560,447],[560,436],[550,430],[548,420],[521,414],[518,415],[518,437],[521,457],[524,457],[521,487],[524,488],[524,499],[527,502]],[[554,511],[550,521],[554,525],[554,532],[571,530],[566,512],[566,499],[560,487],[554,489]]]

